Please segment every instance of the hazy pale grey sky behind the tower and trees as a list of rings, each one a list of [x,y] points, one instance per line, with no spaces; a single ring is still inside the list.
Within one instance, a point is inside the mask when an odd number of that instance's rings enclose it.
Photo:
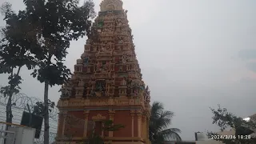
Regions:
[[[14,10],[22,0],[6,0]],[[99,2],[95,8],[99,10]],[[218,130],[209,107],[225,106],[241,117],[256,113],[255,0],[123,0],[143,79],[151,99],[175,113],[182,138]],[[2,3],[2,1],[0,2]],[[5,23],[0,18],[0,26]],[[86,38],[72,42],[66,65],[73,71]],[[43,85],[22,69],[22,93],[42,98]],[[0,85],[6,75],[0,75]],[[50,89],[58,101],[59,87]]]

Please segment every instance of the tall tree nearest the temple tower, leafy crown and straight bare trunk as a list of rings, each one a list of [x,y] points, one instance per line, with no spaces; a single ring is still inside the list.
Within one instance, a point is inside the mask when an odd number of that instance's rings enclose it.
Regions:
[[[62,85],[68,80],[70,70],[63,64],[67,48],[70,47],[70,41],[78,40],[78,38],[90,33],[91,18],[94,17],[94,3],[88,0],[79,6],[78,0],[24,0],[23,2],[26,9],[20,10],[17,14],[18,18],[15,20],[17,22],[25,21],[25,26],[29,26],[29,29],[22,29],[22,26],[19,25],[15,28],[24,31],[25,34],[30,34],[30,31],[33,32],[31,33],[33,37],[29,39],[30,43],[26,44],[24,48],[25,50],[29,49],[25,54],[34,55],[34,58],[28,59],[37,62],[37,67],[32,75],[34,78],[38,78],[39,82],[45,84],[44,143],[48,144],[49,86]],[[10,45],[16,46],[16,43],[19,44],[26,37],[17,35],[17,38],[14,42],[11,41]],[[36,44],[35,47],[34,43]],[[4,59],[6,60],[6,58]],[[10,56],[10,59],[13,60],[14,58]],[[19,62],[23,64],[24,59]],[[30,66],[29,69],[31,68]]]

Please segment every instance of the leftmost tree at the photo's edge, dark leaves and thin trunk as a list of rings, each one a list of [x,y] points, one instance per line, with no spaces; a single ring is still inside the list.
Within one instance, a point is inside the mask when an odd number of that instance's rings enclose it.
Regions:
[[[8,74],[8,85],[0,87],[0,93],[7,99],[6,122],[12,122],[12,97],[18,94],[22,83],[20,72],[23,66],[31,70],[36,65],[34,55],[30,53],[32,48],[37,48],[34,41],[35,33],[26,19],[26,13],[20,11],[15,14],[11,4],[6,2],[1,7],[6,26],[1,28],[0,40],[0,74]],[[6,126],[8,129],[9,126]]]

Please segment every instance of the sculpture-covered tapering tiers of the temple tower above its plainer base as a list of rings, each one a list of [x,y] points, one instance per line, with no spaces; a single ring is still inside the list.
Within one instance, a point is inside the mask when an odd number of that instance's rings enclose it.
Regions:
[[[97,38],[87,39],[70,83],[62,87],[58,106],[145,107],[150,90],[142,82],[122,1],[103,0],[93,27]]]

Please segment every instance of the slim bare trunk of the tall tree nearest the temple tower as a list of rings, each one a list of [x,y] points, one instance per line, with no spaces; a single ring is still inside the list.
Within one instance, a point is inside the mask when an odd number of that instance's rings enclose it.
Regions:
[[[44,144],[49,144],[49,107],[48,107],[48,90],[49,90],[49,82],[45,82],[45,91],[44,91],[44,105],[45,105],[45,114],[44,114]]]

